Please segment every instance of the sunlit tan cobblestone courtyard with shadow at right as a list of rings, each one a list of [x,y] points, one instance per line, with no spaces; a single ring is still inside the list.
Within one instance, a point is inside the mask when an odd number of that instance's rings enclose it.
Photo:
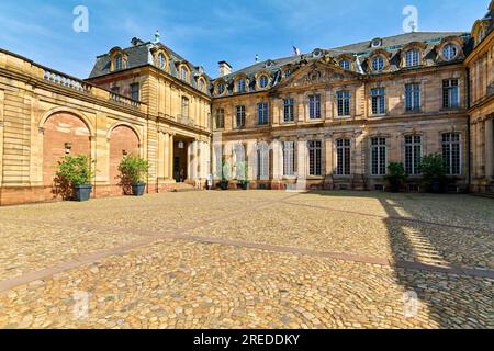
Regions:
[[[184,192],[3,207],[0,248],[0,328],[494,328],[490,199]]]

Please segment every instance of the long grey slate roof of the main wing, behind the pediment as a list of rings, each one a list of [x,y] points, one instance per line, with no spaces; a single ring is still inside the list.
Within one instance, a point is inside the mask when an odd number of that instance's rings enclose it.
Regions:
[[[269,71],[273,77],[272,87],[276,87],[282,80],[282,70],[292,67],[292,70],[296,70],[305,64],[317,61],[324,56],[337,59],[341,55],[347,54],[356,58],[356,65],[352,70],[357,73],[371,73],[368,68],[367,59],[377,50],[385,50],[390,56],[390,67],[386,72],[397,71],[402,69],[400,67],[401,58],[400,53],[405,46],[412,43],[423,43],[425,66],[438,65],[436,60],[436,48],[445,38],[460,37],[464,41],[464,50],[468,50],[468,43],[470,41],[470,33],[465,32],[413,32],[384,38],[379,38],[380,46],[372,47],[372,42],[375,39],[369,39],[357,44],[328,48],[328,49],[315,49],[313,53],[283,57],[279,59],[269,59],[266,61],[257,63],[252,66],[243,68],[238,71],[232,72],[224,77],[218,77],[216,80],[223,79],[228,86],[228,94],[233,93],[233,81],[238,75],[246,75],[249,79],[249,92],[255,92],[256,82],[255,77],[260,71]],[[322,53],[321,53],[322,52]],[[468,53],[465,53],[468,54]],[[270,65],[267,65],[267,64]]]

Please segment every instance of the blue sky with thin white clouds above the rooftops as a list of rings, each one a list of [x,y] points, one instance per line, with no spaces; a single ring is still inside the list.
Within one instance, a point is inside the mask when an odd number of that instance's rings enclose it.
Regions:
[[[76,33],[76,5],[89,10],[89,32]],[[404,7],[418,9],[419,31],[470,31],[489,0],[1,0],[0,47],[76,77],[96,56],[132,37],[161,42],[213,77],[260,58],[402,34]]]

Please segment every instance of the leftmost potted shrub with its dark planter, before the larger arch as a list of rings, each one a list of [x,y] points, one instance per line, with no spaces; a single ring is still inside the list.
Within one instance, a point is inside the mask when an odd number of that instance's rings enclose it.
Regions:
[[[67,184],[70,190],[70,194],[64,196],[66,199],[74,199],[79,202],[88,201],[92,190],[92,176],[91,165],[86,155],[67,155],[58,162],[57,182]]]

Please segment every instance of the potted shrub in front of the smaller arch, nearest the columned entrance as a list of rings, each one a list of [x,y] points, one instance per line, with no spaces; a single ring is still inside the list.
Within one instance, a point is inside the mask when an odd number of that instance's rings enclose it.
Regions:
[[[149,172],[149,162],[141,157],[127,155],[119,166],[122,185],[132,189],[134,196],[143,196],[146,190],[145,178]]]

